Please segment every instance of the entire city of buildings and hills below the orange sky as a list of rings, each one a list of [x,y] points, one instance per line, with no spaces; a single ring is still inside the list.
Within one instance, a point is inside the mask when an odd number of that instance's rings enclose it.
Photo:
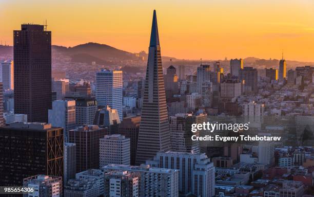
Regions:
[[[12,29],[0,195],[314,197],[314,62],[163,56],[151,11],[140,52]]]

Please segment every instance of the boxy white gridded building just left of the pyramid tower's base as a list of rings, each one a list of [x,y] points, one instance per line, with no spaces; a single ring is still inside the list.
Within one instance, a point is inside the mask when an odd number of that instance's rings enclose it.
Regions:
[[[130,138],[124,135],[105,135],[100,138],[99,144],[99,166],[108,164],[130,165]]]

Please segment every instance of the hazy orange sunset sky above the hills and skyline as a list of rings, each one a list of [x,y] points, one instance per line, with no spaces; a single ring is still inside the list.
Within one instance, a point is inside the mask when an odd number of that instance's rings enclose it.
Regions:
[[[314,62],[313,0],[0,0],[0,39],[47,19],[52,44],[98,42],[148,50],[153,9],[163,56]]]

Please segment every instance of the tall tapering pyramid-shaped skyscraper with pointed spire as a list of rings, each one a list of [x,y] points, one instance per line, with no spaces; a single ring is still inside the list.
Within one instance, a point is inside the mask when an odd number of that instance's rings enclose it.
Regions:
[[[136,164],[144,164],[157,152],[170,148],[170,132],[166,105],[165,84],[160,53],[156,11],[150,35],[149,54],[144,86],[142,117]]]

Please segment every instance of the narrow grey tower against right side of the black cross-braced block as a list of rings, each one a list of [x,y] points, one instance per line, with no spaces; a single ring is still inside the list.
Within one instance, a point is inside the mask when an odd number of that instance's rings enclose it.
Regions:
[[[64,173],[63,184],[67,185],[68,180],[75,178],[76,173],[76,145],[74,143],[64,144]]]

